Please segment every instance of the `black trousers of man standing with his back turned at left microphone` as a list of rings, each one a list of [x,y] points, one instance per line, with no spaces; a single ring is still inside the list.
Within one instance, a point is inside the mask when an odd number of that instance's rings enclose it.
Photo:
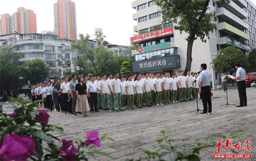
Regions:
[[[207,109],[208,109],[208,112],[212,112],[211,87],[202,86],[201,94],[202,94],[204,112],[207,112]],[[208,107],[207,107],[207,104],[208,104]]]

